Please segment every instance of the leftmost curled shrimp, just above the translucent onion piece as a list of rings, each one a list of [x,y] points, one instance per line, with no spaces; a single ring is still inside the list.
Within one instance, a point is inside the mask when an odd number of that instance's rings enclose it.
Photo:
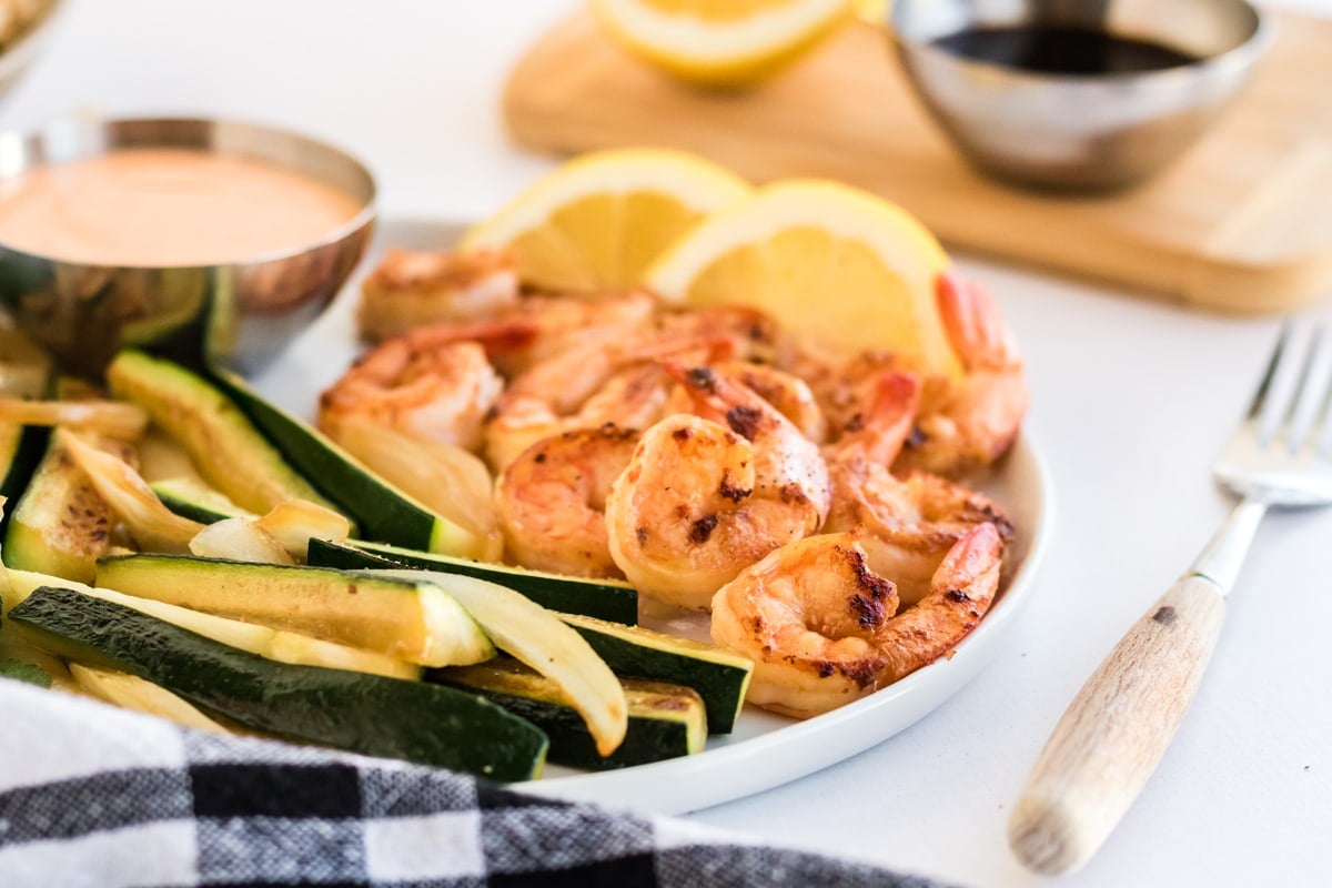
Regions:
[[[333,439],[357,418],[474,450],[503,381],[474,342],[413,347],[397,337],[362,355],[320,395],[318,425]]]

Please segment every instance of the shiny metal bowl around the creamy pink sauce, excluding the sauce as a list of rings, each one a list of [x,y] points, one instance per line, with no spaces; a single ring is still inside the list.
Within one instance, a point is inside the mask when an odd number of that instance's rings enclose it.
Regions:
[[[67,120],[35,134],[0,134],[0,189],[41,164],[144,146],[262,161],[326,182],[361,209],[318,241],[224,265],[89,265],[0,244],[0,304],[63,367],[83,375],[99,374],[129,345],[253,373],[318,317],[365,253],[374,180],[336,148],[256,124]]]

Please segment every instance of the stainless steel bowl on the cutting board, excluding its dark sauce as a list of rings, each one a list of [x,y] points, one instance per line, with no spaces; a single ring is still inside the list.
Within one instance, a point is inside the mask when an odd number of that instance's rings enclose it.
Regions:
[[[1188,148],[1248,77],[1271,27],[1244,0],[895,0],[896,57],[943,130],[982,170],[1022,185],[1115,189]],[[976,27],[1108,32],[1199,61],[1118,75],[1046,75],[932,41]]]

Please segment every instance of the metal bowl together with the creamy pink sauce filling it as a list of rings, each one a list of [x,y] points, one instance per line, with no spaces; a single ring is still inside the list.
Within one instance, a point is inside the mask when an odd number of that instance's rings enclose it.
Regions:
[[[0,134],[0,305],[72,373],[124,346],[253,373],[341,289],[374,197],[356,158],[256,124]]]

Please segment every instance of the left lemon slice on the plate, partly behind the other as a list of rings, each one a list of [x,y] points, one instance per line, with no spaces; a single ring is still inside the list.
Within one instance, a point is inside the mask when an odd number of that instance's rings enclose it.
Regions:
[[[749,193],[745,180],[685,152],[595,152],[537,181],[461,248],[513,252],[518,277],[535,286],[623,289],[642,284],[683,232]]]

